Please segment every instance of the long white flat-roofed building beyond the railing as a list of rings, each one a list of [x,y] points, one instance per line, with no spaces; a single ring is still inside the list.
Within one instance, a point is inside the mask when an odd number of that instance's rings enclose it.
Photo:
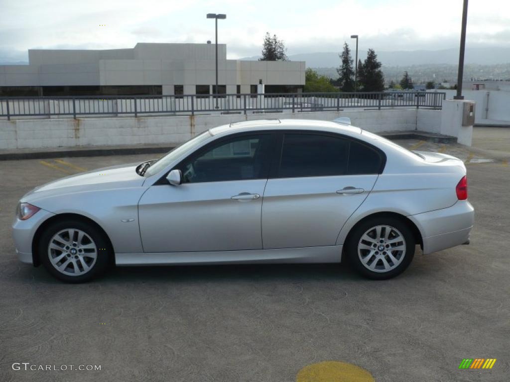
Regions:
[[[130,49],[30,49],[29,65],[0,66],[0,96],[214,94],[214,44],[138,43]],[[301,92],[303,61],[226,59],[218,44],[218,93]]]

